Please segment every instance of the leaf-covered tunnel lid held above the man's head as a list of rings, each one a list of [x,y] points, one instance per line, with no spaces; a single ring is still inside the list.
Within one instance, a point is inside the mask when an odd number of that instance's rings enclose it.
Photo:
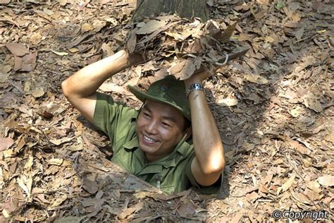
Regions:
[[[247,53],[247,47],[231,39],[236,24],[158,16],[132,23],[125,47],[146,59],[163,60],[165,65],[168,61],[168,74],[185,80],[201,68],[220,67]]]

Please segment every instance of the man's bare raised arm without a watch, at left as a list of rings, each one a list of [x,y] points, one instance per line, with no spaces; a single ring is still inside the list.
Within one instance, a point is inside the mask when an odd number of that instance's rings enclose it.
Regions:
[[[143,61],[140,55],[121,50],[112,56],[85,66],[61,83],[63,94],[89,121],[93,121],[97,89],[114,74]]]

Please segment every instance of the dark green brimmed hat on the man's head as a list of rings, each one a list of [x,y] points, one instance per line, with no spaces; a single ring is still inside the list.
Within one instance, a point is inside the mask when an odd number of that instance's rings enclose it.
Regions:
[[[128,89],[142,102],[149,99],[169,104],[178,109],[189,121],[192,120],[183,80],[176,80],[173,76],[166,76],[166,78],[152,83],[146,93],[131,85],[128,85]]]

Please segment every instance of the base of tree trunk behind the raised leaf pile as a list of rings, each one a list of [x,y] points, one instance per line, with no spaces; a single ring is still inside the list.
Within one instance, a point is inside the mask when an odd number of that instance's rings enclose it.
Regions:
[[[209,19],[206,0],[137,0],[137,8],[132,20],[158,16],[160,13],[175,13],[182,18],[199,17]]]

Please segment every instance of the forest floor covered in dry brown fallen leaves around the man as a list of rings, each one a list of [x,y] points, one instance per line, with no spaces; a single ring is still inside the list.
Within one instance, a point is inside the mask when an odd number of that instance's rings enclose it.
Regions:
[[[0,0],[0,222],[264,222],[274,210],[333,221],[330,2],[207,1],[211,18],[239,20],[233,39],[250,47],[205,85],[223,189],[166,195],[112,164],[109,140],[61,92],[75,71],[123,49],[135,1]],[[101,90],[138,108],[124,86],[148,85],[144,73],[157,70],[129,68]]]

